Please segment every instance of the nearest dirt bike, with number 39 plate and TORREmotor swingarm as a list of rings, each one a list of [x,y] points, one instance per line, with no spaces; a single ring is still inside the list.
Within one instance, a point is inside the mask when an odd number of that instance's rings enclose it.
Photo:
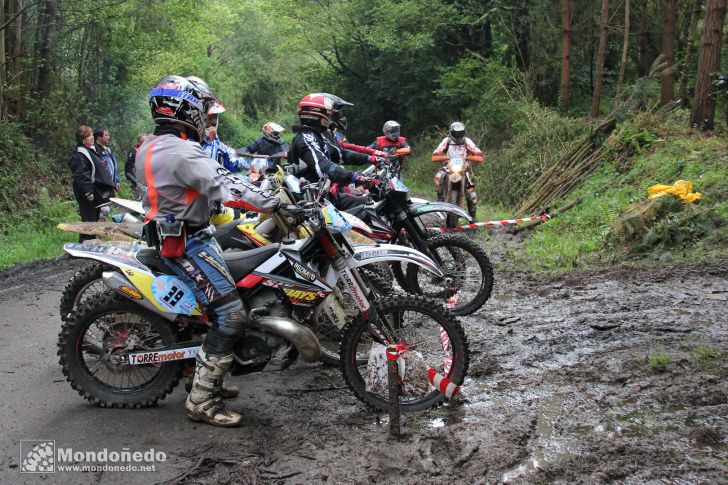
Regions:
[[[340,358],[347,385],[366,404],[387,408],[386,345],[397,344],[411,361],[401,393],[403,411],[444,399],[428,382],[430,369],[461,384],[468,367],[462,327],[441,305],[422,296],[382,297],[359,268],[405,261],[441,275],[437,265],[411,248],[354,246],[351,225],[331,204],[302,209],[312,237],[248,251],[223,253],[248,310],[248,327],[233,349],[233,374],[278,371],[297,358],[319,358],[315,327],[322,312],[343,315],[332,298],[340,281],[357,318],[343,325]],[[76,258],[113,268],[103,273],[109,291],[89,298],[64,322],[58,340],[63,374],[81,396],[102,407],[146,407],[179,382],[207,330],[205,309],[166,267],[156,249],[68,243]]]

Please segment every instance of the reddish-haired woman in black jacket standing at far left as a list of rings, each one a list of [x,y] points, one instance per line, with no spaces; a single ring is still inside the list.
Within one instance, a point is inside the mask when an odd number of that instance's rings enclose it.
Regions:
[[[73,195],[78,202],[81,220],[96,222],[100,213],[98,206],[109,201],[114,191],[114,180],[106,163],[94,150],[94,133],[90,127],[78,127],[76,142],[76,149],[68,159],[68,165],[73,172]],[[86,239],[93,239],[93,236],[79,236],[81,242]]]

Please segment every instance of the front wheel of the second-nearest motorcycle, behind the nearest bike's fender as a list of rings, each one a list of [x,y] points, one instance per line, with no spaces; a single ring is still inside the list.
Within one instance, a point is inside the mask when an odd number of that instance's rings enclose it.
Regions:
[[[455,315],[470,315],[482,307],[493,291],[493,267],[483,248],[456,234],[431,237],[426,244],[444,276],[410,264],[410,290],[443,301]]]

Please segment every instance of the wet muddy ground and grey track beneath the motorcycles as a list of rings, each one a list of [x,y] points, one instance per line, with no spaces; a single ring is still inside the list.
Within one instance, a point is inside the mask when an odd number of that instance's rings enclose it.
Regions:
[[[156,408],[106,410],[64,381],[58,298],[78,263],[0,273],[0,482],[728,483],[728,263],[496,273],[463,319],[460,402],[386,417],[335,369],[232,378],[240,429],[195,425],[181,388]],[[19,473],[19,440],[74,450],[155,448],[154,472]]]

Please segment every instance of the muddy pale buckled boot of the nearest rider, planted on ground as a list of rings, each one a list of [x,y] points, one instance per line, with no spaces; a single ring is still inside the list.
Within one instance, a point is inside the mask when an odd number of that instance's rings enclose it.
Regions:
[[[223,427],[240,425],[240,413],[226,409],[221,395],[222,379],[232,363],[232,354],[224,357],[208,355],[204,348],[197,353],[192,391],[185,402],[185,411],[192,421]]]

